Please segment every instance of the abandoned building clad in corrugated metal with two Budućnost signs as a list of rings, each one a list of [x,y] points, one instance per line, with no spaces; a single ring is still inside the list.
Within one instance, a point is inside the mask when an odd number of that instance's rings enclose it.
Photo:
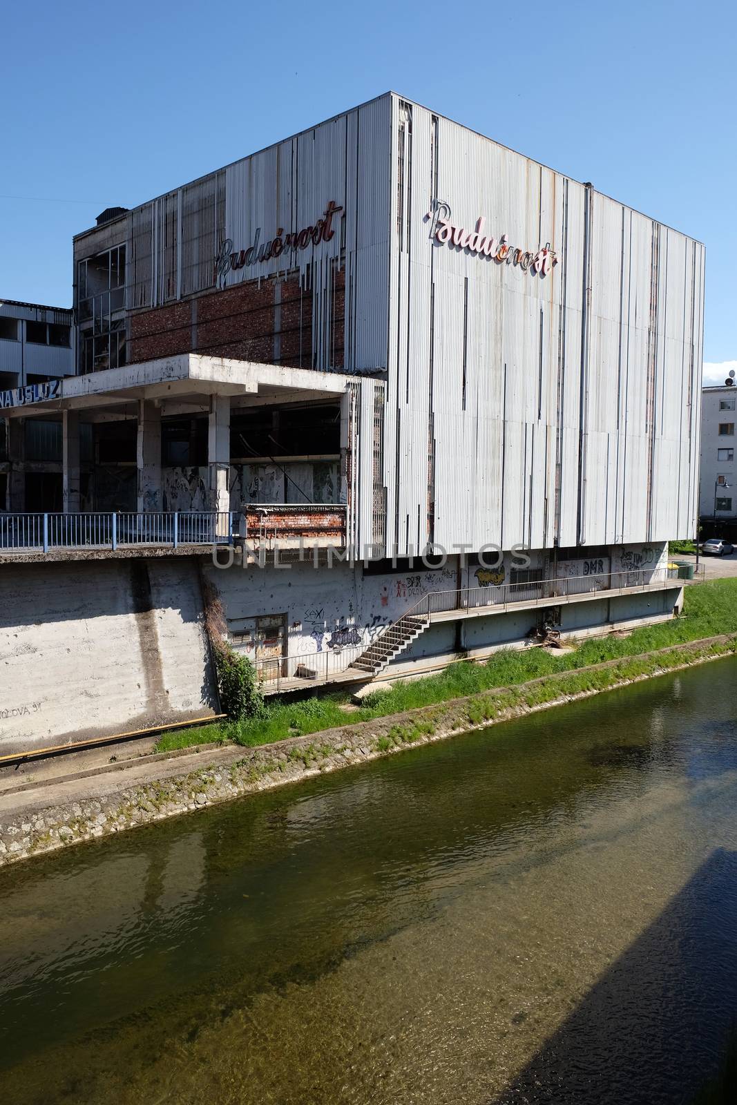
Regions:
[[[0,741],[217,709],[212,593],[281,691],[671,617],[703,304],[698,242],[393,93],[107,209],[76,373],[3,401],[0,654],[38,709]]]

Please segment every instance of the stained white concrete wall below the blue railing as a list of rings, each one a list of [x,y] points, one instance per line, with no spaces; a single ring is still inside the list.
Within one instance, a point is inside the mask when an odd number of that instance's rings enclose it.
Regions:
[[[215,712],[197,571],[0,566],[0,755]]]

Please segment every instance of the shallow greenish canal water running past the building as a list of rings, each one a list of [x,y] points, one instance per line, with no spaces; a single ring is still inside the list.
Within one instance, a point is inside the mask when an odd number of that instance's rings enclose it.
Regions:
[[[737,659],[0,872],[9,1105],[688,1102]]]

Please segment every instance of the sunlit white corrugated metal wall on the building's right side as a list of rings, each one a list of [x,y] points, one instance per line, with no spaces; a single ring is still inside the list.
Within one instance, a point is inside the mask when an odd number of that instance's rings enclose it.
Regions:
[[[703,246],[397,96],[392,143],[389,543],[693,535]],[[438,203],[558,263],[440,242]]]

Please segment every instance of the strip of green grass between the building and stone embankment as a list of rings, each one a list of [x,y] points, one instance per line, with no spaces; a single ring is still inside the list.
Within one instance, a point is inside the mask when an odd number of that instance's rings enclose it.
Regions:
[[[589,675],[579,673],[577,676],[576,670],[606,661],[632,657],[631,663],[618,665],[610,672],[619,670],[619,678],[635,678],[657,667],[650,661],[638,662],[636,657],[643,653],[734,632],[737,632],[737,579],[719,579],[687,587],[682,617],[656,625],[643,627],[629,636],[609,635],[589,639],[571,652],[547,649],[504,650],[484,663],[464,661],[452,664],[439,675],[398,682],[387,691],[375,692],[367,696],[359,708],[349,713],[345,707],[350,696],[345,691],[315,696],[305,702],[272,702],[266,706],[264,716],[260,718],[238,724],[213,724],[199,729],[167,734],[161,737],[156,750],[167,751],[214,740],[233,740],[249,746],[271,744],[347,723],[368,722],[420,706],[449,702],[494,687],[514,686],[561,672],[571,674],[565,681],[552,681],[557,685],[556,694],[603,690],[604,686],[612,685],[613,675],[604,676],[603,673],[596,673],[598,680],[603,680],[603,683],[599,685],[597,682],[596,685],[590,685],[592,673]],[[550,690],[552,692],[552,687]]]

